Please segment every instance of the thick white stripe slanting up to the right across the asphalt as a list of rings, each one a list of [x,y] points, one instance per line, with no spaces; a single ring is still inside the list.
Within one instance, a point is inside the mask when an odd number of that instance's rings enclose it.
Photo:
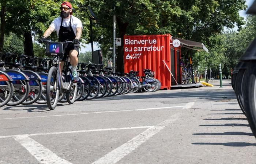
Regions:
[[[93,164],[115,164],[120,161],[123,157],[134,151],[138,148],[141,144],[146,142],[150,137],[157,134],[160,130],[165,128],[171,122],[177,120],[177,114],[174,114],[168,120],[165,120],[158,124],[157,126],[148,128],[146,131],[140,133],[138,136],[132,138],[130,141],[126,142],[125,144],[121,145],[120,147],[114,149],[110,153],[106,154],[105,156],[101,157]]]

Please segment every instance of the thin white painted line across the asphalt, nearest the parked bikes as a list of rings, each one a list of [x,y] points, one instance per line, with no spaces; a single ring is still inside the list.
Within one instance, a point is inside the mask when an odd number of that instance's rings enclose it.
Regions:
[[[113,110],[113,111],[104,111],[104,112],[91,112],[91,113],[78,113],[78,114],[60,114],[60,115],[50,115],[50,116],[33,116],[33,117],[15,117],[15,118],[1,118],[0,120],[12,120],[12,119],[21,119],[21,118],[41,118],[41,117],[60,117],[60,116],[75,116],[83,114],[95,114],[95,113],[113,113],[113,112],[130,112],[130,111],[140,111],[140,110],[157,110],[157,109],[169,109],[169,108],[181,108],[183,106],[168,106],[162,108],[146,108],[146,109],[132,109],[132,110]]]

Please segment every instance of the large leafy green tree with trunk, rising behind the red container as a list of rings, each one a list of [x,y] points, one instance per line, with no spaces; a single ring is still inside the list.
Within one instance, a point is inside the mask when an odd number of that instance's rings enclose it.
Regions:
[[[113,15],[117,37],[122,39],[124,35],[175,36],[181,32],[184,39],[209,43],[210,36],[220,33],[224,26],[231,28],[236,24],[241,28],[244,22],[238,11],[246,9],[245,0],[90,0],[85,4],[97,6],[93,9],[100,21],[94,38],[105,52],[112,47]],[[123,44],[117,50],[117,71],[123,72]]]

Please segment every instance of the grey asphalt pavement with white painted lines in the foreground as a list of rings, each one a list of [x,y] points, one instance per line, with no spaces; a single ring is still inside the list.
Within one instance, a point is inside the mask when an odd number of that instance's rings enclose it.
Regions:
[[[256,163],[231,81],[59,104],[0,108],[0,164]]]

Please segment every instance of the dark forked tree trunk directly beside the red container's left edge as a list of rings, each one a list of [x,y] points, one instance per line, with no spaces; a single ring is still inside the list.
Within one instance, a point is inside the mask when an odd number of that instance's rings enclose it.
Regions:
[[[118,36],[122,38],[121,46],[117,48],[117,61],[116,61],[116,72],[124,72],[124,35],[126,34],[126,28],[128,23],[123,23],[123,21],[117,17],[117,26],[118,26]]]

